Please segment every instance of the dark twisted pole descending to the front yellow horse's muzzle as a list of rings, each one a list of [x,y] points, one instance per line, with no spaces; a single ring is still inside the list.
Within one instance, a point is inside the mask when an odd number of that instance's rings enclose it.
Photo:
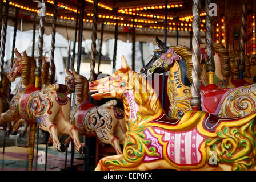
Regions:
[[[94,81],[95,76],[95,57],[96,57],[96,39],[97,39],[97,19],[98,19],[98,0],[93,1],[93,32],[91,34],[91,71],[90,71],[90,79]]]

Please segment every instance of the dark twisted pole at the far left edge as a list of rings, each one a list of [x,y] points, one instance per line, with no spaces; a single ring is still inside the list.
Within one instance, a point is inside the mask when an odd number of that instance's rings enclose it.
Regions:
[[[7,29],[7,21],[8,21],[8,9],[9,9],[9,0],[6,0],[5,3],[5,10],[4,10],[4,17],[3,17],[3,31],[1,36],[1,76],[0,76],[0,88],[2,88],[3,84],[3,66],[5,64],[5,42],[6,42],[6,29]]]

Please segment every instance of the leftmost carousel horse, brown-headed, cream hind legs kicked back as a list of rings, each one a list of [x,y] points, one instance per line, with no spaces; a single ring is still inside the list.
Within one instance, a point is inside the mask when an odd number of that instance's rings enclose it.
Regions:
[[[61,144],[58,134],[70,135],[74,141],[75,150],[86,155],[87,149],[82,146],[78,137],[77,127],[69,122],[70,99],[66,96],[66,85],[52,84],[44,89],[35,88],[35,60],[23,56],[15,49],[17,60],[14,61],[7,78],[14,81],[22,77],[22,88],[10,102],[10,109],[0,115],[0,123],[3,121],[17,122],[25,119],[26,122],[38,123],[42,130],[48,131],[53,137],[53,146],[59,152],[65,152],[65,144]]]

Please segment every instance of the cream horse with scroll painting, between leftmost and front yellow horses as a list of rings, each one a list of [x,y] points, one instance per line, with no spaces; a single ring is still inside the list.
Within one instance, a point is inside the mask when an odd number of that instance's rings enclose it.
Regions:
[[[111,144],[117,154],[122,154],[120,144],[125,140],[125,119],[123,110],[116,107],[117,101],[110,100],[101,106],[89,103],[89,81],[74,70],[74,75],[66,69],[66,85],[75,92],[75,106],[70,113],[70,123],[78,128],[79,135],[96,136],[101,142]],[[68,144],[71,137],[65,141]]]

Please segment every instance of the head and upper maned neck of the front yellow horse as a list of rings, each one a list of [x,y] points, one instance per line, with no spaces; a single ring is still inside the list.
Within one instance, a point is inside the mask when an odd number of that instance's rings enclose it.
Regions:
[[[161,115],[163,109],[151,85],[143,76],[131,70],[124,56],[121,62],[122,67],[112,75],[90,82],[89,90],[94,93],[92,97],[95,100],[123,100],[126,119],[136,119],[140,115],[138,119],[142,121],[143,117]]]

